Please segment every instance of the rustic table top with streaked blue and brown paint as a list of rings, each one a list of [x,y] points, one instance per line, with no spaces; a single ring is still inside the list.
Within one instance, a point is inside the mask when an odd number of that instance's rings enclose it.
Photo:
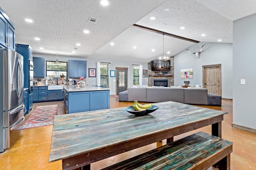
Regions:
[[[177,102],[154,105],[159,109],[142,117],[128,113],[126,107],[55,116],[49,162],[139,141],[142,137],[185,125],[190,127],[191,123],[206,122],[220,115],[223,119],[223,114],[226,114]]]

